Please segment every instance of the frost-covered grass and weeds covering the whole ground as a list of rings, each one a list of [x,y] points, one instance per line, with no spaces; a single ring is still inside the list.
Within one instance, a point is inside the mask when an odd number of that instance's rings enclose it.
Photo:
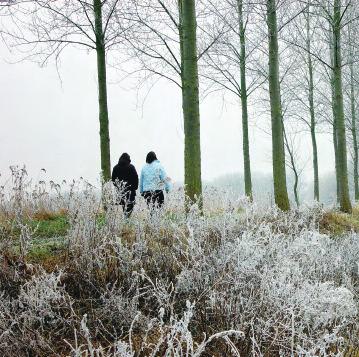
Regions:
[[[103,211],[84,181],[16,169],[0,196],[0,355],[355,355],[356,216],[207,190],[203,215],[176,191],[126,220],[111,185]],[[59,237],[33,223],[59,217]]]

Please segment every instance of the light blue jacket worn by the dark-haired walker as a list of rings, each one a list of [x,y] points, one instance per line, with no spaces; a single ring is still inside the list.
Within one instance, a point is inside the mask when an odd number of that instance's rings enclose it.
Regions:
[[[155,160],[150,164],[146,164],[141,171],[140,192],[163,189],[169,192],[171,190],[171,183],[161,163]]]

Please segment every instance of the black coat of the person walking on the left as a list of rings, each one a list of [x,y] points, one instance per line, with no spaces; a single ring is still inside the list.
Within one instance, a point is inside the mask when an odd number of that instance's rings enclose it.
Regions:
[[[131,200],[134,199],[138,189],[138,175],[135,167],[129,160],[119,160],[112,170],[112,181],[115,186],[124,187],[130,193]]]

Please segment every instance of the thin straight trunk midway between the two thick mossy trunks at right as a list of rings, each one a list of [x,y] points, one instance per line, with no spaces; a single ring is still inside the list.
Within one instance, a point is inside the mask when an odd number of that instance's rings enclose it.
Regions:
[[[307,24],[307,56],[308,56],[308,74],[309,74],[309,112],[310,112],[310,136],[312,139],[312,150],[313,150],[313,173],[314,173],[314,199],[319,201],[319,173],[318,173],[318,148],[316,138],[316,121],[315,121],[315,110],[314,110],[314,80],[313,80],[313,61],[311,55],[311,35],[310,35],[310,4],[308,5],[306,13],[306,24]]]

